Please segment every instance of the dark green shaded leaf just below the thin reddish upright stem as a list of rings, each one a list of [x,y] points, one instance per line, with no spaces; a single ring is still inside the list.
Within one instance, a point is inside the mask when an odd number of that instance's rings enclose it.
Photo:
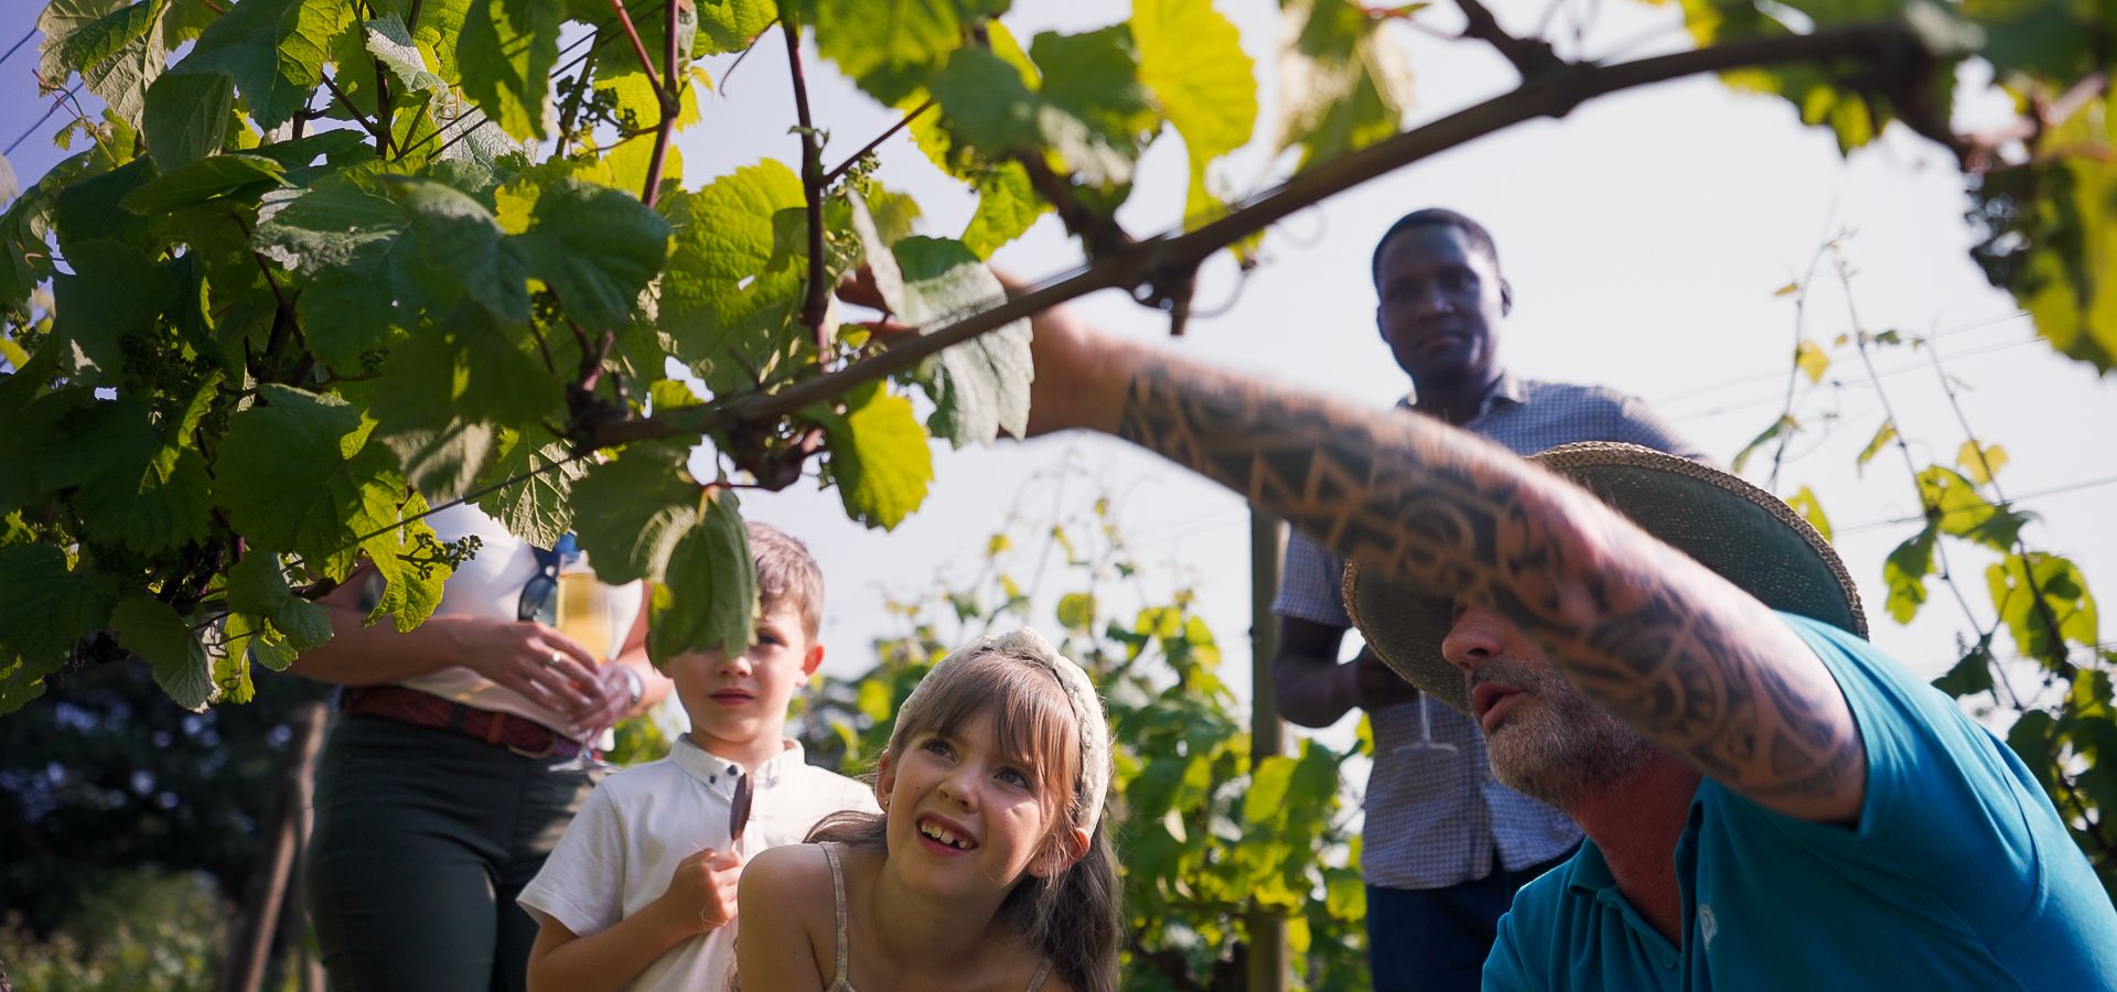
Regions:
[[[563,180],[544,186],[521,235],[531,275],[593,328],[625,324],[669,256],[669,222],[637,197]]]

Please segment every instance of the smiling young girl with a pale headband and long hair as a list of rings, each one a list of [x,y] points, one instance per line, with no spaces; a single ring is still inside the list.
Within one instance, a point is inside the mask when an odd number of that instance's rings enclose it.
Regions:
[[[830,816],[743,869],[741,988],[1114,990],[1109,768],[1088,675],[1042,635],[951,654],[898,711],[883,812]]]

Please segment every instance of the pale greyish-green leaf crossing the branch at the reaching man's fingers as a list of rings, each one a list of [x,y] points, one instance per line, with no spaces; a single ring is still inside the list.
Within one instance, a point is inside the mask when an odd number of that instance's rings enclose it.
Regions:
[[[989,307],[1006,298],[999,279],[957,241],[908,237],[898,241],[895,260],[904,273],[904,305],[898,313],[912,324]],[[991,444],[999,431],[1016,438],[1029,431],[1029,322],[1020,319],[940,353],[934,379],[936,434],[951,444]]]

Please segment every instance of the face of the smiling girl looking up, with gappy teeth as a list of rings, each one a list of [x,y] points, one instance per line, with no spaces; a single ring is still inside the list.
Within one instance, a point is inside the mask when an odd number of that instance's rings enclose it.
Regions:
[[[1071,831],[1080,844],[1054,842],[1052,819],[1067,804],[1044,795],[1042,778],[1029,755],[1001,749],[991,715],[915,734],[902,755],[883,757],[876,783],[889,812],[889,857],[902,859],[906,880],[936,895],[1006,893],[1025,874],[1065,869],[1069,848],[1086,850],[1086,831]]]

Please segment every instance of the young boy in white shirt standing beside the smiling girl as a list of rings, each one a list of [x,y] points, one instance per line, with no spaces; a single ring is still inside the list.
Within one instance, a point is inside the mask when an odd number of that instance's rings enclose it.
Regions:
[[[838,810],[879,812],[874,791],[802,761],[788,702],[815,666],[824,573],[794,537],[749,525],[758,643],[741,658],[669,662],[690,715],[669,757],[612,774],[589,795],[521,895],[538,918],[529,990],[718,990],[735,969],[735,884],[758,850],[796,844]],[[741,774],[752,808],[728,816]]]

